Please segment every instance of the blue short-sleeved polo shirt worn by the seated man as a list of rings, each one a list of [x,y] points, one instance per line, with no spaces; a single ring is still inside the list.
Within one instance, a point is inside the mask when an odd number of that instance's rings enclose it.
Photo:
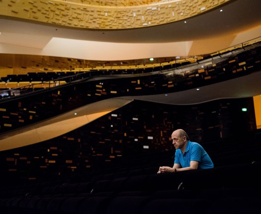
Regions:
[[[181,149],[176,149],[174,163],[184,168],[190,166],[190,161],[198,161],[198,169],[210,169],[214,167],[212,160],[204,148],[200,144],[188,140],[184,154]]]

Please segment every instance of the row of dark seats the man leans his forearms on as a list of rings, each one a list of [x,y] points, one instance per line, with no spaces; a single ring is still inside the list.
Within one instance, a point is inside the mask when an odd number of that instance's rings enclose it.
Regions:
[[[142,191],[150,194],[166,190],[202,190],[218,188],[261,187],[258,174],[261,162],[215,167],[207,170],[183,171],[178,173],[148,174],[105,179],[94,177],[91,181],[59,183],[55,185],[1,188],[0,198],[14,196],[39,196],[54,194],[114,193]],[[61,181],[64,182],[64,181]]]

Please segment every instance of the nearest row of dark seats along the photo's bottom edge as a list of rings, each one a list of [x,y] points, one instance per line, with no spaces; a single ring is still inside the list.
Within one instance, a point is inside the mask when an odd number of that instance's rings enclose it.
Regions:
[[[175,190],[150,196],[122,192],[117,196],[17,197],[0,199],[0,209],[5,214],[258,214],[260,200],[260,189],[253,188]]]

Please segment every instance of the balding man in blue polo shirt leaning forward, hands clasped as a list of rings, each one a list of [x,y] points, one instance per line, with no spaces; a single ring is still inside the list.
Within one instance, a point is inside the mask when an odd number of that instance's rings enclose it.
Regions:
[[[191,142],[184,130],[175,130],[172,133],[172,140],[176,149],[174,166],[161,166],[158,173],[210,169],[214,167],[204,148],[196,142]]]

